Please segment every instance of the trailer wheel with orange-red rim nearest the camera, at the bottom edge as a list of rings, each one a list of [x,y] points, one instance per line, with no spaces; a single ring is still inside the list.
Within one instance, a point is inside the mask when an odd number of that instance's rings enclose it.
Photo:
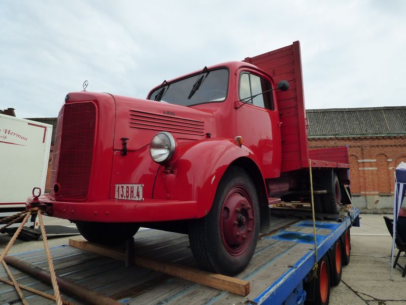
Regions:
[[[328,305],[330,300],[330,264],[327,255],[324,255],[318,262],[317,278],[314,278],[307,285],[308,289],[314,289],[313,299],[304,303],[309,305]],[[313,290],[312,289],[312,290]],[[307,293],[312,295],[312,293]]]

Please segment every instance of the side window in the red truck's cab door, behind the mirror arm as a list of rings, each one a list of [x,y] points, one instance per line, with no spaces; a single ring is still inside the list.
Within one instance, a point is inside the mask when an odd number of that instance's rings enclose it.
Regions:
[[[270,82],[262,77],[247,72],[243,72],[240,75],[240,100],[258,95],[249,103],[258,107],[274,110],[273,95],[271,91],[268,91],[271,88],[272,85]]]

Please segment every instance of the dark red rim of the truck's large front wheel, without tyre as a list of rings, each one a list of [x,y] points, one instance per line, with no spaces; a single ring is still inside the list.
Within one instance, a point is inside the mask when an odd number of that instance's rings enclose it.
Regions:
[[[234,187],[226,195],[220,214],[221,238],[227,252],[241,255],[251,242],[253,228],[251,198],[243,187]]]

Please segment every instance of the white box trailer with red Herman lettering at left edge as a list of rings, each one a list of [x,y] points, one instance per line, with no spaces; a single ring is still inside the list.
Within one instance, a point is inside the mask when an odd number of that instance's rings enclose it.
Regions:
[[[52,125],[0,114],[0,219],[25,210],[33,188],[45,192],[51,138]]]

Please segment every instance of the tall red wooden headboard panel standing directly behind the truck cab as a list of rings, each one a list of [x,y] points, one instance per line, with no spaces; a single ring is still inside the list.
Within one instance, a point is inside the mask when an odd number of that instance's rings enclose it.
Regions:
[[[307,119],[304,109],[300,44],[267,52],[243,60],[257,66],[273,78],[289,82],[289,90],[276,91],[282,137],[282,172],[309,166]]]

